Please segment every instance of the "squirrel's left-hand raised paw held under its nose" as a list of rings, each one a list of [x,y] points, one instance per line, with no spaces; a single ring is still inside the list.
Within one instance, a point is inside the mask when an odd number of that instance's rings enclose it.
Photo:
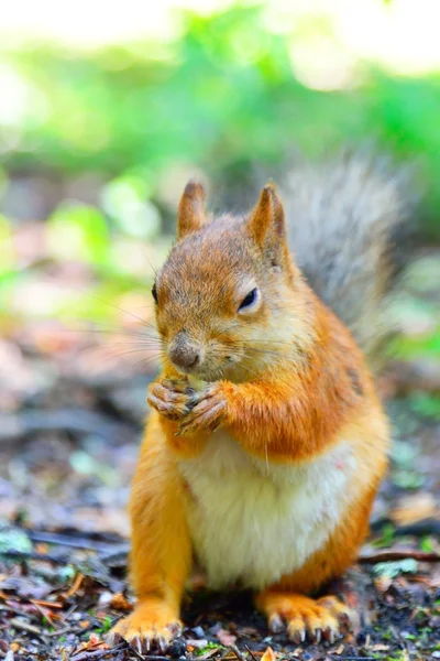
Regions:
[[[167,420],[178,421],[194,405],[195,390],[188,381],[182,379],[163,379],[151,384],[147,402]]]

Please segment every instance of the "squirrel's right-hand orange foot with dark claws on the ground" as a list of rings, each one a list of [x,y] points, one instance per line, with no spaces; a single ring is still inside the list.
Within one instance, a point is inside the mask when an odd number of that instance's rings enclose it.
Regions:
[[[306,637],[311,642],[334,642],[355,626],[355,614],[337,597],[312,599],[302,595],[265,590],[258,595],[256,606],[268,620],[274,633],[283,630],[300,644]]]

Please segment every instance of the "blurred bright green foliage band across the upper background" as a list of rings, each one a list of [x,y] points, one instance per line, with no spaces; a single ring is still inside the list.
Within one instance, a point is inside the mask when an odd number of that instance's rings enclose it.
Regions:
[[[439,178],[439,76],[393,78],[361,63],[352,89],[317,91],[296,79],[288,45],[262,8],[237,6],[187,13],[165,44],[10,52],[29,104],[4,164],[128,173],[154,192],[179,160],[220,176],[237,163],[279,163],[294,145],[316,154],[374,139],[399,159],[422,156],[428,182]],[[440,193],[430,189],[428,229],[439,232]]]

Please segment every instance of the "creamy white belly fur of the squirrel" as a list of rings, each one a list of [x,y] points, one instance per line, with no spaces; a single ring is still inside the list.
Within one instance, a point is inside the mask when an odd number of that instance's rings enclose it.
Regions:
[[[251,457],[226,432],[180,463],[188,516],[209,585],[262,588],[320,549],[345,509],[355,459],[348,443],[294,466]]]

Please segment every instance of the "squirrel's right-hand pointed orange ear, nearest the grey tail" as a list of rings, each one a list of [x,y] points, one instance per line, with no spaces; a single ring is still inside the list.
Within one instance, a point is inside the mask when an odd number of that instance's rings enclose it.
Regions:
[[[273,266],[282,266],[286,247],[286,223],[282,201],[273,184],[266,184],[251,213],[248,229],[254,241],[267,252]]]

